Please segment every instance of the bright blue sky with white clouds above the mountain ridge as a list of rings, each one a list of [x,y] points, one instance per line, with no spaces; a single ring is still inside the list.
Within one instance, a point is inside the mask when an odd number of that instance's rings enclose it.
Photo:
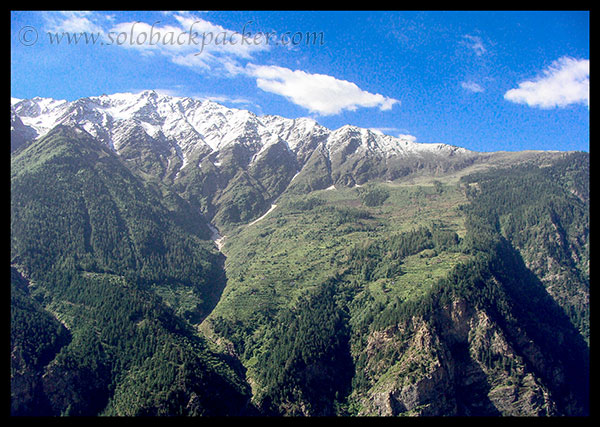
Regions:
[[[589,151],[589,12],[11,12],[13,97],[145,89],[477,151]]]

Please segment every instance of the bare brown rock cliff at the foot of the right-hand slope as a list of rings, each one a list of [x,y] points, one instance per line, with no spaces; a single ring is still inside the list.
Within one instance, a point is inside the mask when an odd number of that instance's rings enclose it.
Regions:
[[[362,396],[361,415],[556,415],[548,387],[502,328],[464,300],[371,333],[366,351],[396,356],[367,365],[379,380]]]

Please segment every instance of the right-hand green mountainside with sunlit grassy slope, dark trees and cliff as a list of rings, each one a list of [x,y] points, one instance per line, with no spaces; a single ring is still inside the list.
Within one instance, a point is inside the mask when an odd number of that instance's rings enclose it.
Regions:
[[[282,197],[206,323],[266,413],[587,413],[587,162]]]

